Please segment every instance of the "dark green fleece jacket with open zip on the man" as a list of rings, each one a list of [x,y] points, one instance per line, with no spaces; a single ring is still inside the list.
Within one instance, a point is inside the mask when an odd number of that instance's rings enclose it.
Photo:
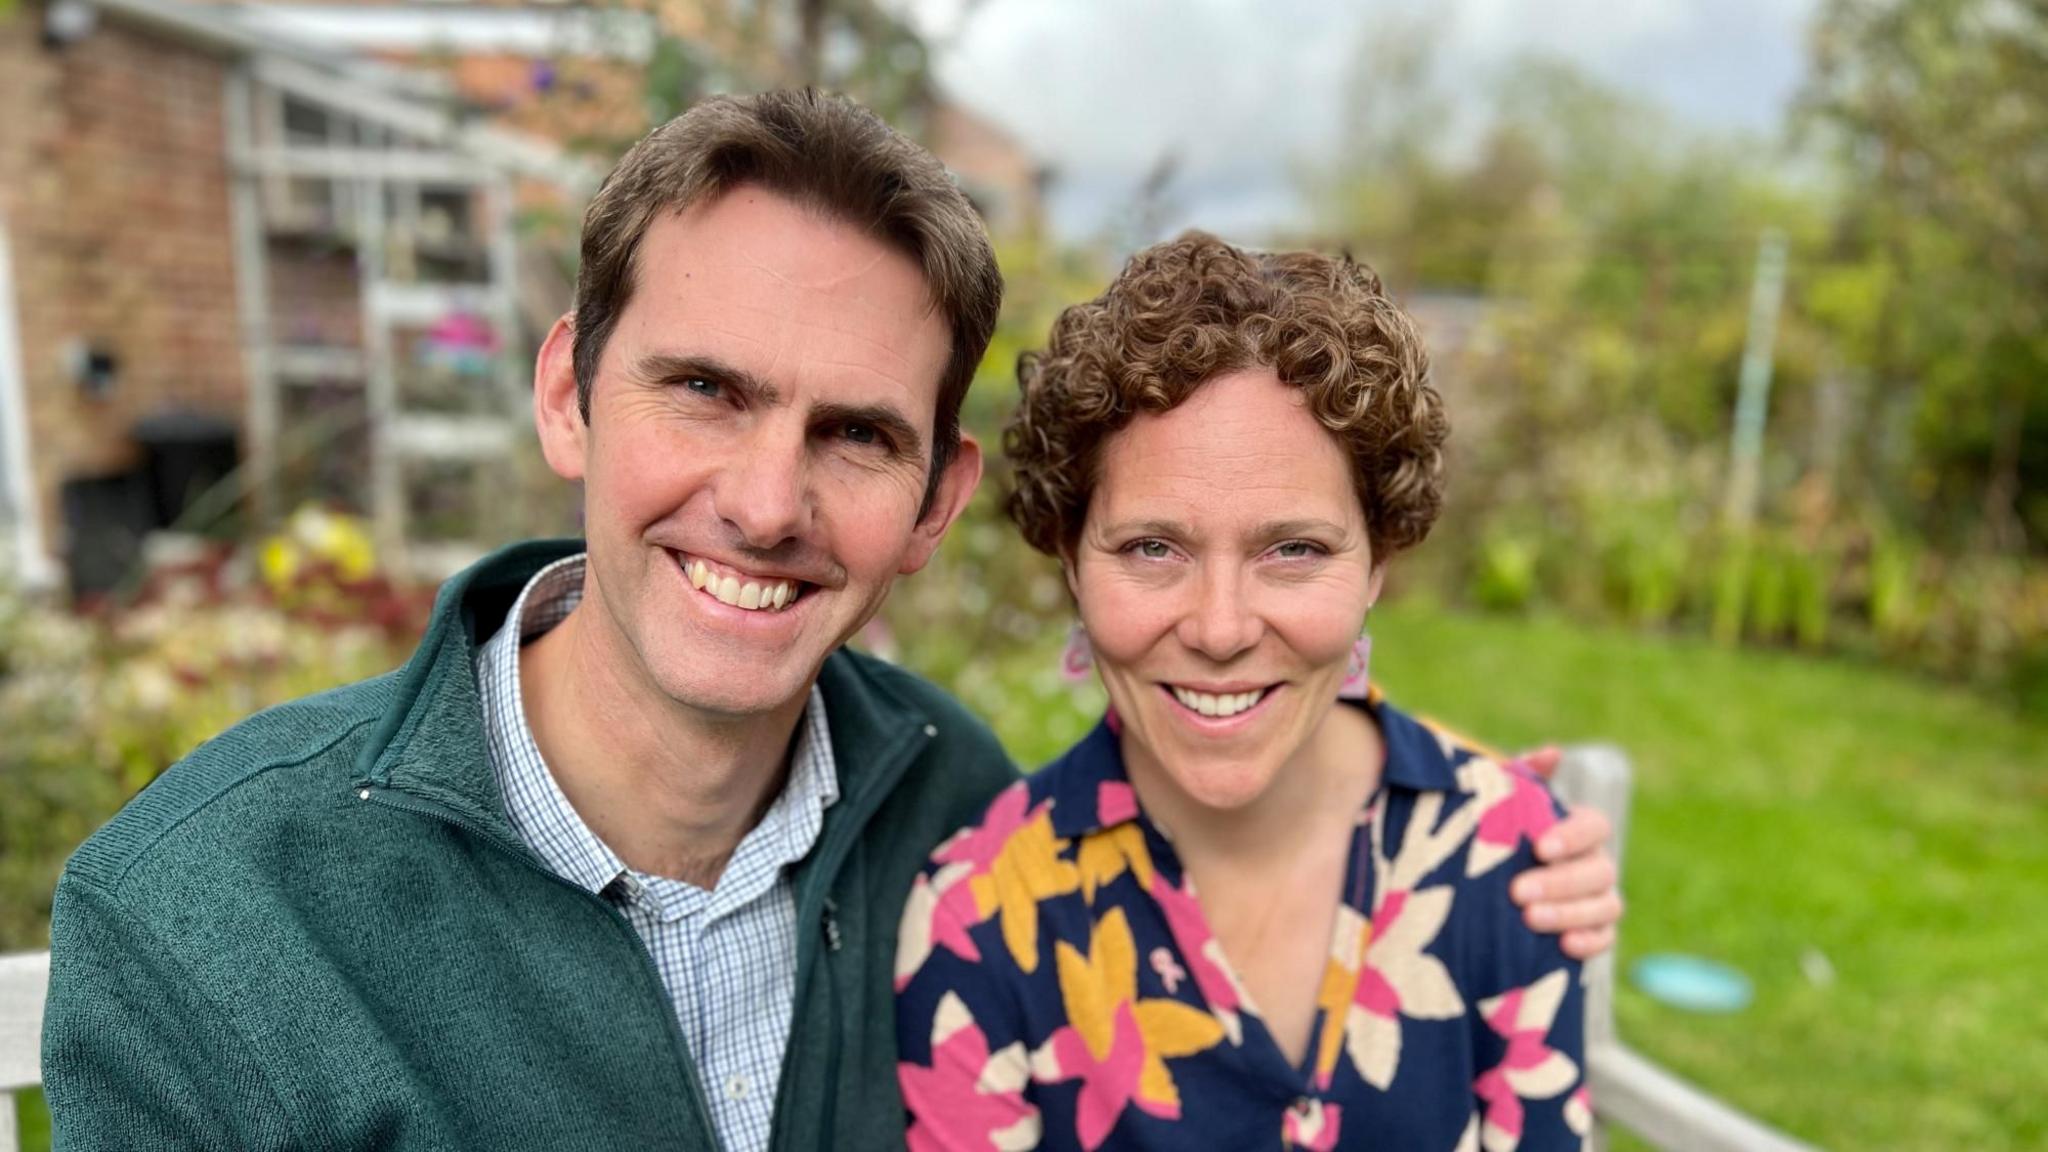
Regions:
[[[575,543],[451,580],[414,658],[256,715],[72,857],[43,1076],[59,1150],[713,1150],[653,959],[512,830],[475,652]],[[778,1152],[903,1146],[897,918],[1014,779],[932,685],[836,652],[840,801],[797,867]]]

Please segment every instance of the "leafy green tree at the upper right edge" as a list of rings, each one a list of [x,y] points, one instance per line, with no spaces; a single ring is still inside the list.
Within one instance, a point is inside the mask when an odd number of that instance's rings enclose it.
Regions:
[[[2025,549],[2021,494],[2048,486],[2048,4],[1829,0],[1804,109],[1855,189],[1845,246],[1892,273],[1874,371],[1919,385],[1925,463],[1980,478],[1980,543]],[[2048,506],[2032,521],[2044,543]]]

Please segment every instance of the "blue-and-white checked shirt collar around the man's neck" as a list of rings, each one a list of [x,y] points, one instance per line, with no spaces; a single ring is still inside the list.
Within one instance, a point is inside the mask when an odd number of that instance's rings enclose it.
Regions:
[[[485,736],[492,767],[506,799],[506,816],[520,838],[563,879],[588,892],[604,892],[631,869],[602,840],[563,795],[555,773],[541,758],[541,748],[526,724],[520,693],[518,650],[561,623],[584,599],[586,553],[567,556],[535,572],[506,615],[506,623],[477,652],[477,681],[483,687]],[[831,730],[825,717],[825,695],[813,685],[797,736],[791,742],[791,773],[762,822],[748,832],[733,863],[754,857],[770,865],[801,861],[809,855],[823,828],[825,808],[840,799],[838,765],[831,750]],[[739,879],[743,869],[727,867]],[[745,883],[745,888],[756,888]],[[721,879],[721,896],[723,879]],[[748,894],[733,894],[750,898]],[[723,900],[721,900],[723,904]]]

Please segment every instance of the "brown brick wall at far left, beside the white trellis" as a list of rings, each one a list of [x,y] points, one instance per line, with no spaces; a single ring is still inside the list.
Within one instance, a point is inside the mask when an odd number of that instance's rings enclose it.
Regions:
[[[12,238],[29,455],[45,539],[57,486],[127,467],[129,426],[166,406],[240,420],[225,64],[100,16],[45,49],[41,4],[0,16],[0,225]],[[119,375],[86,396],[74,344]]]

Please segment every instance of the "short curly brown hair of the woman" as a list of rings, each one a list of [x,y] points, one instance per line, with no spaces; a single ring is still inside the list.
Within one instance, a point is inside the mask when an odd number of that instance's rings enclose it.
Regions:
[[[1061,556],[1081,533],[1102,445],[1223,373],[1272,367],[1352,457],[1374,560],[1421,543],[1444,502],[1450,422],[1415,324],[1372,269],[1317,252],[1245,252],[1206,232],[1155,244],[1018,357],[1004,430],[1006,502],[1024,539]]]

